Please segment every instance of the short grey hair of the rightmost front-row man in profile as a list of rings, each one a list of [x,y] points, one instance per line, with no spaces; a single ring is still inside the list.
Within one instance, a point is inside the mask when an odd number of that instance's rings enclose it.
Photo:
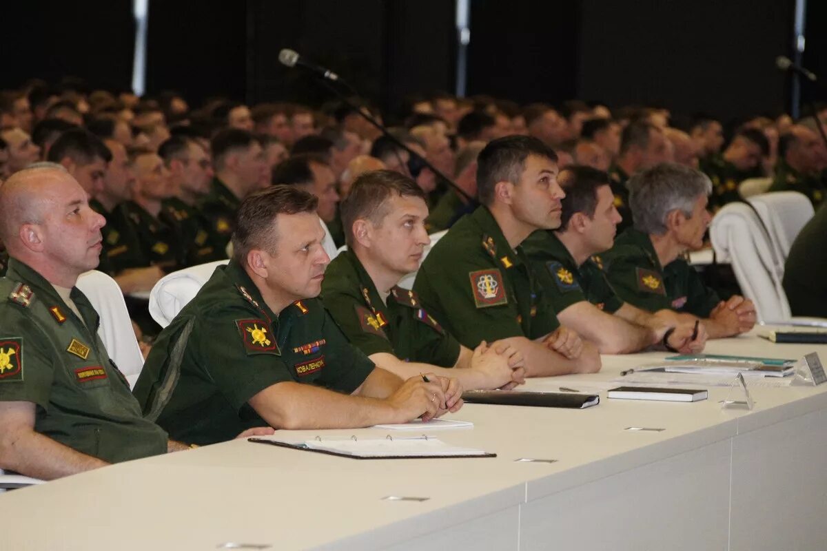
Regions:
[[[712,192],[705,173],[675,163],[656,164],[634,173],[627,186],[635,229],[654,235],[666,233],[670,212],[677,209],[692,216],[698,197]]]

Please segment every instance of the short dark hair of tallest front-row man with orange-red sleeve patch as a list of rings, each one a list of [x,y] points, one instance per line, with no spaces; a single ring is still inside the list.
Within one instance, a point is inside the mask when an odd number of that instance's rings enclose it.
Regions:
[[[494,201],[494,188],[498,182],[519,183],[528,155],[538,155],[557,163],[557,154],[552,148],[527,135],[507,135],[491,140],[480,151],[476,159],[476,188],[483,205]]]

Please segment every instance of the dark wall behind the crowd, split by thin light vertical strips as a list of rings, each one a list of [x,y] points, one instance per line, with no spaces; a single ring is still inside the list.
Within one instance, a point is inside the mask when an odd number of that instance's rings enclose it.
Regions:
[[[808,2],[805,64],[827,75],[827,4]],[[785,107],[773,69],[791,54],[794,0],[472,0],[467,91],[519,102],[572,97],[659,103],[730,118]],[[291,47],[385,109],[408,93],[454,87],[451,0],[151,0],[147,91],[195,104],[332,96],[278,64]],[[0,3],[0,88],[66,74],[128,88],[129,0]],[[824,98],[823,91],[820,97]]]

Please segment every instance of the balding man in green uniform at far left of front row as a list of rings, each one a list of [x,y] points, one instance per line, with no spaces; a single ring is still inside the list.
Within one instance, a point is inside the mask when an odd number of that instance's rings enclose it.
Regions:
[[[141,416],[74,283],[98,265],[103,217],[64,170],[0,187],[0,468],[55,478],[184,449]],[[7,443],[13,445],[4,445]]]

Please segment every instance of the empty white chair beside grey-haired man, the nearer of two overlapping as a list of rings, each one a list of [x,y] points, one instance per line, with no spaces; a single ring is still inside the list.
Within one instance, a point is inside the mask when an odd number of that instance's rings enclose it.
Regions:
[[[755,303],[758,321],[789,320],[790,305],[782,287],[784,264],[753,209],[725,205],[710,225],[715,254],[732,264],[744,297]]]

